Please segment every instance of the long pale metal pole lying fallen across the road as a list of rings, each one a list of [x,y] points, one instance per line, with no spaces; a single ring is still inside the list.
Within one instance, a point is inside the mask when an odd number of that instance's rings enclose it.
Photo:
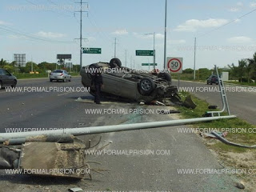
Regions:
[[[30,131],[30,132],[22,132],[22,133],[4,133],[0,134],[0,142],[6,142],[9,139],[13,138],[27,138],[38,135],[54,135],[61,136],[66,134],[76,135],[84,135],[84,134],[102,134],[108,132],[117,132],[123,130],[140,130],[140,129],[150,129],[164,126],[179,126],[185,124],[191,124],[194,122],[208,122],[214,121],[218,119],[224,118],[236,118],[235,115],[229,116],[219,116],[219,117],[209,117],[209,118],[189,118],[189,119],[178,119],[178,120],[170,120],[163,122],[142,122],[142,123],[134,123],[134,124],[122,124],[115,126],[91,126],[91,127],[81,127],[81,128],[66,128],[63,130],[41,130],[41,131]]]

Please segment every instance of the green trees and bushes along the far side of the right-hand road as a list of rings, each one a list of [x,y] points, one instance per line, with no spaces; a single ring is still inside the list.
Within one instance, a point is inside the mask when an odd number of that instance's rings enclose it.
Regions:
[[[248,86],[256,86],[256,53],[253,55],[253,58],[242,58],[238,61],[238,66],[235,66],[234,63],[228,65],[226,68],[219,69],[219,73],[222,72],[230,73],[230,80],[232,83]],[[215,73],[214,69],[201,68],[195,71],[195,80],[194,80],[194,70],[186,69],[183,70],[182,74],[172,74],[172,77],[187,81],[206,81],[212,73]]]

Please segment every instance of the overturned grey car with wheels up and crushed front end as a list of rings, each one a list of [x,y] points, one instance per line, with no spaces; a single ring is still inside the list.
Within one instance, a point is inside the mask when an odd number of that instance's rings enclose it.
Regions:
[[[91,86],[94,74],[101,73],[104,87],[102,96],[106,98],[126,98],[135,102],[161,102],[170,99],[170,102],[181,105],[177,86],[171,85],[169,73],[149,73],[148,71],[132,70],[122,66],[118,58],[110,62],[97,62],[83,66],[80,74],[82,85],[90,87],[90,94],[95,94]]]

